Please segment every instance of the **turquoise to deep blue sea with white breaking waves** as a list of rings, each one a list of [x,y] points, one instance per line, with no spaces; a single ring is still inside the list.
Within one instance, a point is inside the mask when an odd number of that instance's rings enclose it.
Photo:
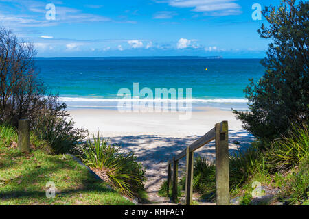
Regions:
[[[258,59],[202,57],[98,57],[38,59],[39,77],[68,107],[113,108],[121,88],[192,88],[196,105],[246,109],[244,88],[258,81],[264,67]],[[207,68],[207,70],[206,70]]]

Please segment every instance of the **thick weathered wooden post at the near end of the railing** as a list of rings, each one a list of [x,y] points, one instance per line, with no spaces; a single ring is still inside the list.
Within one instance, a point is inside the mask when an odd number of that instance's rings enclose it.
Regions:
[[[216,127],[216,203],[229,205],[229,127],[227,121]]]

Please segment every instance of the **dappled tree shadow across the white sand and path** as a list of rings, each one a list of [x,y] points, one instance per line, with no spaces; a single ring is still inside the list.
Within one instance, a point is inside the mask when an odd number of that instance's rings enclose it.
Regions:
[[[116,136],[109,139],[111,143],[117,143],[123,149],[133,151],[139,162],[146,168],[146,190],[152,194],[159,191],[160,185],[167,177],[167,162],[174,155],[183,151],[186,146],[198,140],[201,136],[185,136],[175,138],[169,136],[139,135],[139,136]],[[254,138],[247,131],[229,130],[229,153],[237,153],[246,149]],[[207,157],[209,161],[215,159],[215,142],[206,144],[194,153]],[[179,176],[183,174],[185,158],[179,162]]]

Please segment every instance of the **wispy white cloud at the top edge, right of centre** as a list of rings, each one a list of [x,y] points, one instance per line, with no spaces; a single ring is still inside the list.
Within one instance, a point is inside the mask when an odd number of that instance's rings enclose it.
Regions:
[[[241,14],[237,0],[168,0],[168,5],[176,8],[193,8],[194,12],[204,12],[209,16]],[[161,1],[163,2],[163,1]]]

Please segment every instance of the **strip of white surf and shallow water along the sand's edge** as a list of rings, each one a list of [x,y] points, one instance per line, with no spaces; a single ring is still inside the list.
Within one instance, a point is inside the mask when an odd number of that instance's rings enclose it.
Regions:
[[[136,105],[146,107],[148,110],[175,110],[175,111],[198,111],[203,108],[214,108],[218,110],[249,110],[247,99],[147,99],[147,98],[119,98],[119,99],[103,99],[99,96],[60,96],[60,101],[67,104],[70,110],[78,109],[102,109],[102,110],[118,110],[123,108],[133,109]]]

